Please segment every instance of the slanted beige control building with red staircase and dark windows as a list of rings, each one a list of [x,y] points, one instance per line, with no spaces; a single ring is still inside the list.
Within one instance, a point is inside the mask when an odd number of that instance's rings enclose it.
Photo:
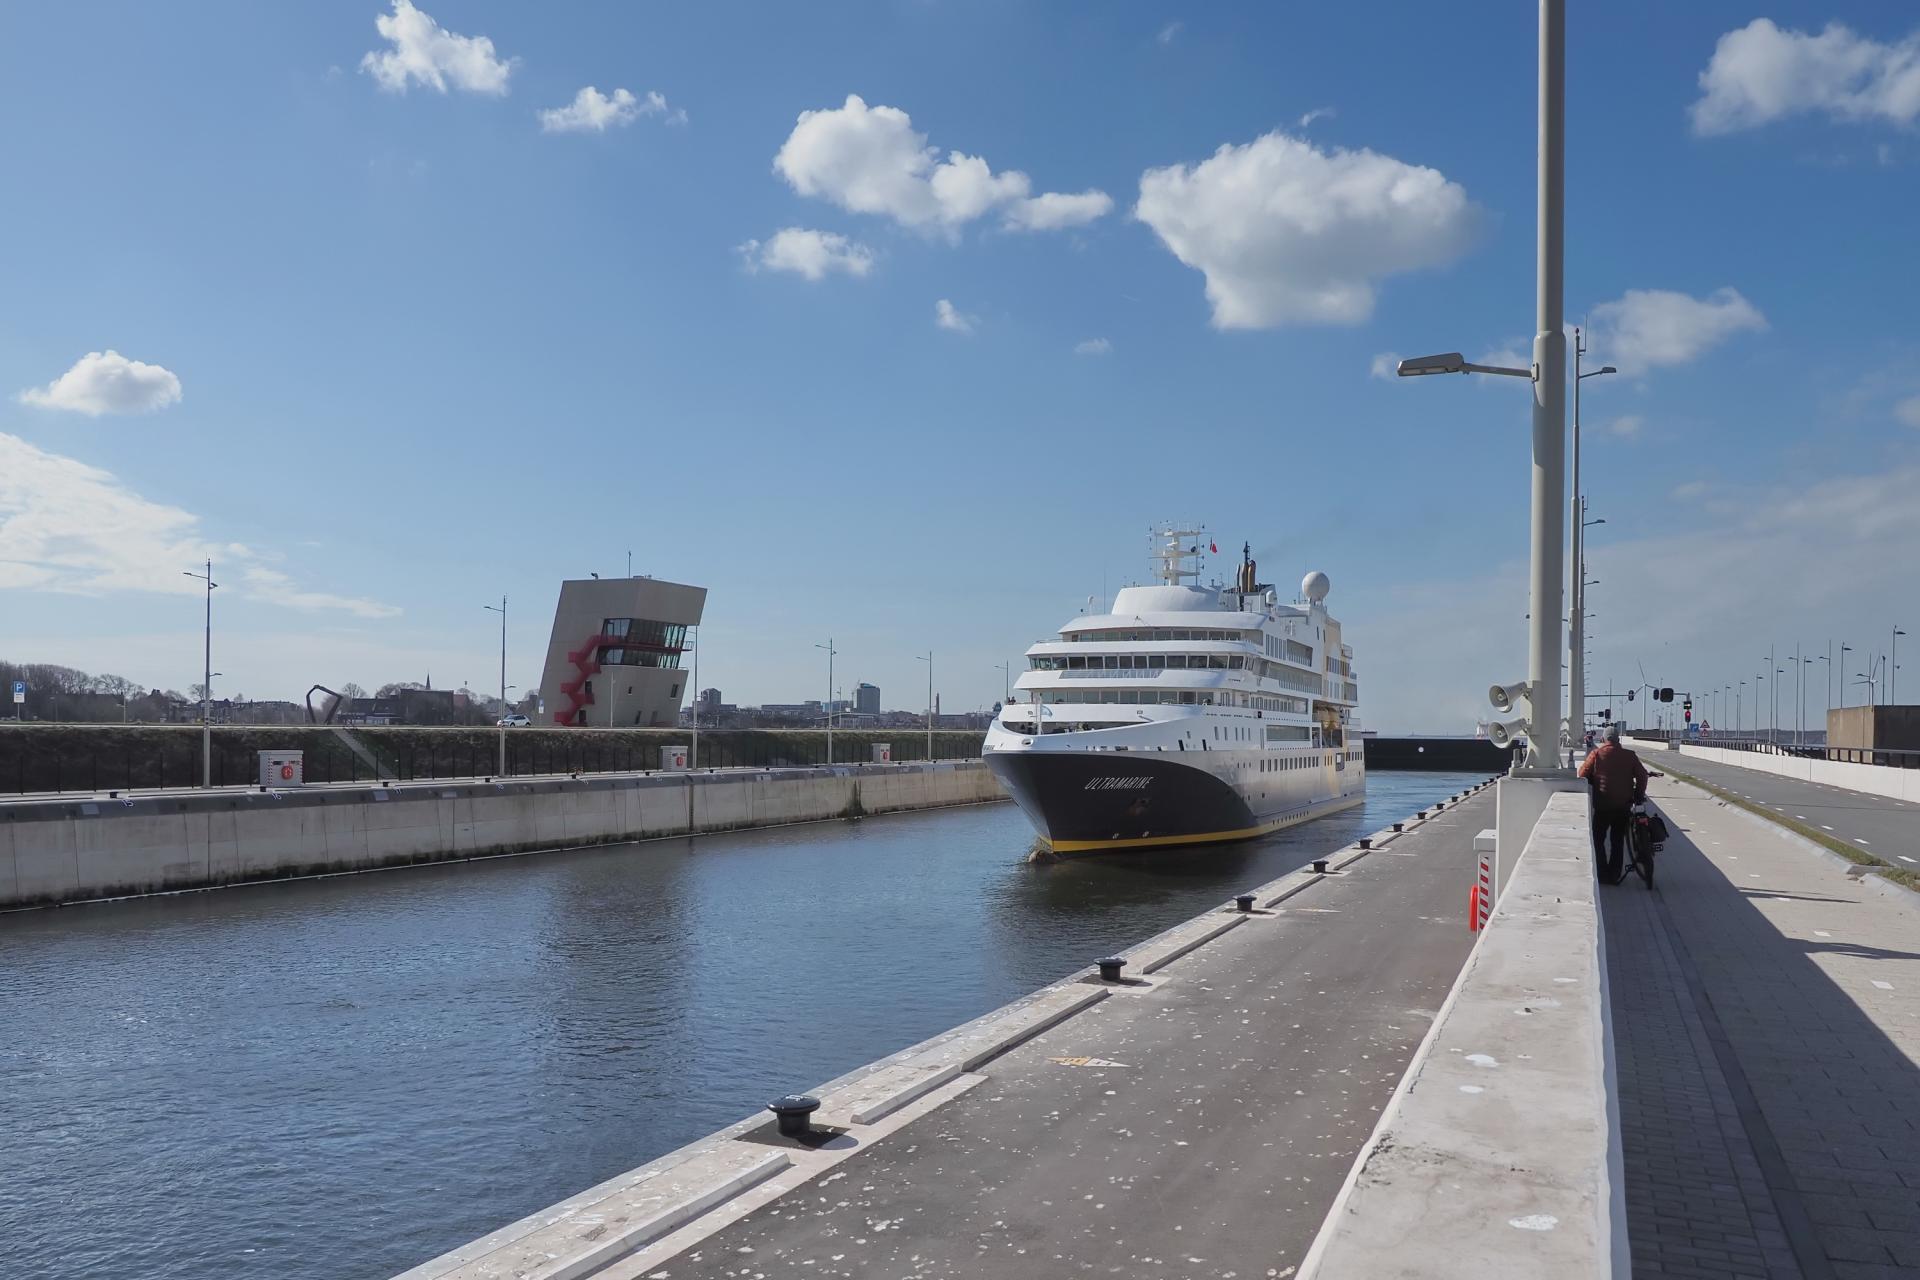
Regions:
[[[601,729],[680,723],[680,662],[705,606],[707,587],[659,578],[563,581],[540,676],[547,720]]]

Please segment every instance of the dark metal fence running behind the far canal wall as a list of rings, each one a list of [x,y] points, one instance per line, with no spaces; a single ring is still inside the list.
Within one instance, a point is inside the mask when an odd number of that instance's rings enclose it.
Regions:
[[[927,752],[924,735],[891,739],[895,764],[925,760],[975,760],[981,733],[941,731],[933,735]],[[620,741],[595,733],[518,735],[507,733],[507,770],[499,770],[499,741],[492,735],[419,735],[415,741],[380,745],[380,770],[357,758],[346,747],[326,743],[315,748],[303,745],[307,783],[372,783],[394,781],[455,781],[492,777],[538,777],[572,773],[657,773],[660,747],[687,747],[689,741]],[[79,750],[17,750],[12,768],[0,766],[0,793],[121,793],[200,787],[200,739],[161,741],[154,745],[102,745]],[[870,764],[870,741],[849,741],[835,735],[833,764]],[[828,764],[826,735],[701,735],[697,770],[799,770]],[[257,779],[253,747],[234,747],[215,741],[211,758],[215,787],[246,787]]]

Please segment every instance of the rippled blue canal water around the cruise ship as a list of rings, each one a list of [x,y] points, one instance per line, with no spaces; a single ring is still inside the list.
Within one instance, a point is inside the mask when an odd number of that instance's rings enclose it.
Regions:
[[[0,1274],[390,1276],[1480,775],[1027,864],[1010,804],[0,915]]]

